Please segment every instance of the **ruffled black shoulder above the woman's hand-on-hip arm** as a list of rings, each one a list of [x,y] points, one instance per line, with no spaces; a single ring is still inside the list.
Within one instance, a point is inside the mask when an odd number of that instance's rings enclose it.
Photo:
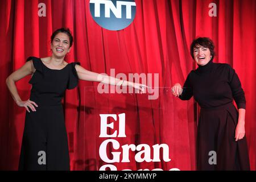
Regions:
[[[36,84],[36,82],[39,82],[44,78],[44,72],[43,72],[43,63],[42,60],[39,59],[38,57],[28,57],[26,61],[32,60],[32,63],[34,65],[34,68],[36,71],[33,73],[29,83],[30,84]]]

